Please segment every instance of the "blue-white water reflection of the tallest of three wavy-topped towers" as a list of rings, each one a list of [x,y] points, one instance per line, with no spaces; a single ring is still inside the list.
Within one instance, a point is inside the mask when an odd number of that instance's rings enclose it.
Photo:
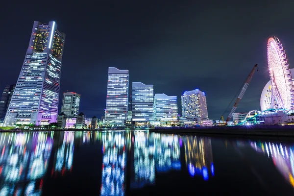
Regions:
[[[126,165],[124,133],[104,132],[102,141],[102,196],[123,196]]]

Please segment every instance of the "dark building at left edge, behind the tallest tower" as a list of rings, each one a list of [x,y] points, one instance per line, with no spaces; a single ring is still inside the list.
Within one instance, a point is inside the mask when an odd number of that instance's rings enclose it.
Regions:
[[[9,103],[11,101],[15,84],[5,86],[0,100],[0,119],[3,119],[6,115]]]

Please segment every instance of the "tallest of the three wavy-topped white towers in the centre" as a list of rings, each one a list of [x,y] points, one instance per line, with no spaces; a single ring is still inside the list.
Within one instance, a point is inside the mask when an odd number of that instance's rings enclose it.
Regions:
[[[105,122],[125,125],[128,111],[128,70],[108,68]]]

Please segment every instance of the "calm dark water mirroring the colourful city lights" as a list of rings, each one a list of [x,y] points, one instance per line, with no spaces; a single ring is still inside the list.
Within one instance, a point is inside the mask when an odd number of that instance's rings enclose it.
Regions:
[[[148,131],[0,133],[0,196],[294,195],[294,141]]]

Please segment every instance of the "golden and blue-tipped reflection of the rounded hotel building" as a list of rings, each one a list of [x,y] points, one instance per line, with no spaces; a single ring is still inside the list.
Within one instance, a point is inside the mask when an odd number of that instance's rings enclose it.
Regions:
[[[202,176],[204,180],[209,175],[214,176],[214,164],[210,138],[182,136],[185,148],[185,160],[189,174]]]

